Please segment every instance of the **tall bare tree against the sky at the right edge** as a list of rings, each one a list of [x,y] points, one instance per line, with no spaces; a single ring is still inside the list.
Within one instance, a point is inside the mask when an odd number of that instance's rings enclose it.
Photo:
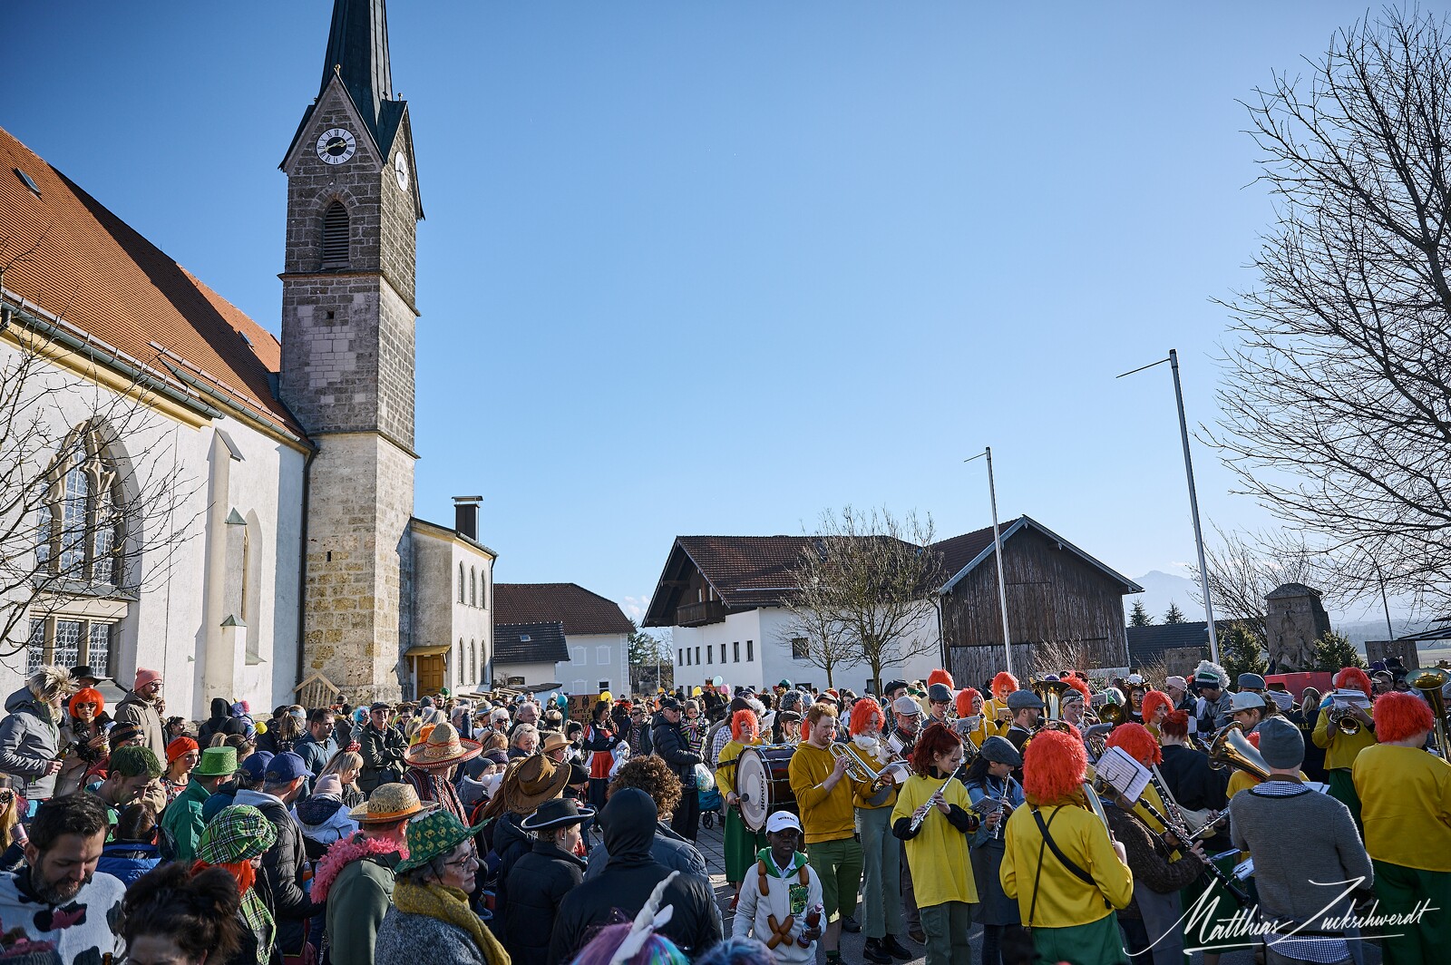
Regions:
[[[1451,594],[1451,36],[1387,10],[1248,103],[1278,202],[1213,441],[1341,572]]]

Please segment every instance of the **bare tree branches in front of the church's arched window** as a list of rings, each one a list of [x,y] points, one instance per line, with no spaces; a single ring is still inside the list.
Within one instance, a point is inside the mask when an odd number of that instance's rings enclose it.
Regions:
[[[33,251],[0,264],[0,283],[6,268]],[[62,319],[6,296],[0,656],[25,650],[29,621],[70,602],[135,599],[161,585],[176,550],[199,530],[192,501],[197,483],[178,469],[181,428],[154,408],[164,379],[115,351],[97,358],[109,350],[93,340],[77,350],[62,341],[71,334]],[[84,367],[64,369],[58,357]],[[125,459],[118,457],[122,450]]]

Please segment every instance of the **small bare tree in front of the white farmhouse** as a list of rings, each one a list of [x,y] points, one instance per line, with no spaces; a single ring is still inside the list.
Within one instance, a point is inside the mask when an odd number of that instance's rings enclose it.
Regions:
[[[929,594],[940,580],[940,560],[927,546],[932,518],[894,517],[887,509],[862,515],[852,506],[826,511],[810,534],[797,569],[795,598],[786,608],[801,625],[823,666],[865,663],[875,686],[882,670],[937,652]],[[810,657],[808,657],[810,659]]]

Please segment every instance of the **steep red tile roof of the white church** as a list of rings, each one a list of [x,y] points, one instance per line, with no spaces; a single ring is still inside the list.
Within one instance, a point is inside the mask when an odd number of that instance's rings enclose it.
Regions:
[[[39,197],[16,171],[39,187]],[[0,264],[13,260],[4,273],[9,292],[165,373],[151,347],[157,342],[206,373],[209,387],[302,434],[270,387],[268,373],[281,366],[273,334],[4,128],[0,225]]]

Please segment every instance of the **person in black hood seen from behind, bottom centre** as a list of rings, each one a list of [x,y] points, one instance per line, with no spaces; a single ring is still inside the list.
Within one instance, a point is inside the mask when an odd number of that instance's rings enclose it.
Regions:
[[[649,794],[622,788],[599,814],[609,863],[595,879],[570,891],[559,907],[548,961],[569,962],[601,924],[633,919],[654,887],[673,872],[650,856],[657,811]],[[659,933],[686,955],[701,955],[721,940],[721,917],[708,881],[676,875],[665,887],[660,907],[675,908]]]

